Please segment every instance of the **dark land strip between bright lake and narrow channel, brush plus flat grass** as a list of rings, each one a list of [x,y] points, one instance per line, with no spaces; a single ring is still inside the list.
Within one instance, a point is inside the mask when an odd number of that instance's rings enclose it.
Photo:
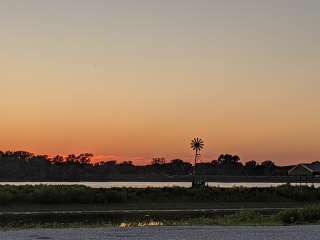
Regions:
[[[0,186],[0,212],[300,208],[316,203],[320,203],[319,188],[290,185],[203,189]]]

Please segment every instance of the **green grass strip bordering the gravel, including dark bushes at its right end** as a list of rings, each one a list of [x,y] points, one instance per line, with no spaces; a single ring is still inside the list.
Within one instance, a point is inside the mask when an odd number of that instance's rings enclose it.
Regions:
[[[80,216],[80,217],[79,217]],[[36,218],[21,216],[1,219],[0,229],[27,228],[96,228],[96,227],[145,227],[145,226],[280,226],[290,224],[318,224],[320,205],[302,209],[284,210],[277,214],[264,215],[257,211],[243,210],[229,215],[197,217],[137,216],[133,219],[97,218],[96,216],[62,218]]]

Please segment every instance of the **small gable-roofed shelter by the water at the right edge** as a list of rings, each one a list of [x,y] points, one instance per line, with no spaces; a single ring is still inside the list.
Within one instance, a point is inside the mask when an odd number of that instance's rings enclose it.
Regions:
[[[289,176],[298,176],[300,184],[302,180],[306,183],[313,183],[315,176],[320,176],[320,162],[301,163],[288,171]]]

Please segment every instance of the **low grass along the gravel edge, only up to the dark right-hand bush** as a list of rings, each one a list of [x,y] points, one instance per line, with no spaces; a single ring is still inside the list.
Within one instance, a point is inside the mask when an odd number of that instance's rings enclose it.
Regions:
[[[29,228],[100,228],[100,227],[145,227],[145,226],[275,226],[283,225],[279,215],[264,216],[254,211],[241,211],[232,215],[216,217],[195,217],[182,219],[140,219],[114,221],[112,219],[86,219],[83,221],[63,222],[63,221],[43,221],[26,222],[16,219],[16,221],[2,222],[0,229],[29,229]]]

